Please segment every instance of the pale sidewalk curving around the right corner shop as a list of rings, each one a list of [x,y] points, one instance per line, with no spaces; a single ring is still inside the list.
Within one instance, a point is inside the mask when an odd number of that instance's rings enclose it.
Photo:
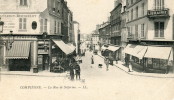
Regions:
[[[98,56],[104,58],[100,52],[98,53]],[[118,63],[116,64],[116,61],[114,61],[113,63],[114,63],[114,66],[125,71],[129,75],[143,76],[143,77],[154,77],[154,78],[174,78],[174,74],[172,74],[172,73],[158,74],[158,73],[145,73],[145,72],[136,72],[136,71],[129,72],[128,67],[124,66],[123,62],[118,61]]]

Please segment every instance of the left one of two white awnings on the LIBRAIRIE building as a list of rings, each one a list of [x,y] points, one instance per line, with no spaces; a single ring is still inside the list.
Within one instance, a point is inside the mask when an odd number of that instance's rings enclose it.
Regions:
[[[124,52],[142,59],[147,51],[147,46],[128,44]]]

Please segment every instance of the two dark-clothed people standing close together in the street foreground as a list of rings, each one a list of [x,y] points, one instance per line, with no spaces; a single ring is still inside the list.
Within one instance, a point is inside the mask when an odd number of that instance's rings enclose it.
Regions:
[[[76,79],[80,80],[80,65],[78,64],[78,61],[70,62],[70,79],[74,80],[74,77],[76,76]]]

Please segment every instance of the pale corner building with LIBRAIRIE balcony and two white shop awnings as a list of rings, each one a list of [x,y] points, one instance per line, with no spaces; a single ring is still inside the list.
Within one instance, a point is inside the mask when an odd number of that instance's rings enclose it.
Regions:
[[[128,59],[148,72],[173,72],[172,3],[166,0],[127,0],[126,6],[129,39],[126,48],[134,48],[134,53],[125,50]]]

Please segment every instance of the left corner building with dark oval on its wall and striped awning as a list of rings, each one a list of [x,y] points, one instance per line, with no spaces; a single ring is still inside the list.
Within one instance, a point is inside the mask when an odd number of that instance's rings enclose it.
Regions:
[[[68,40],[64,39],[68,36],[68,31],[65,31],[68,27],[64,28],[68,26],[68,15],[64,17],[64,8],[68,8],[64,0],[0,1],[0,18],[4,22],[3,31],[0,33],[3,41],[0,48],[3,54],[2,69],[51,70],[56,59],[71,52],[60,45],[68,48],[65,44]],[[13,33],[11,44],[8,43],[10,32]]]

